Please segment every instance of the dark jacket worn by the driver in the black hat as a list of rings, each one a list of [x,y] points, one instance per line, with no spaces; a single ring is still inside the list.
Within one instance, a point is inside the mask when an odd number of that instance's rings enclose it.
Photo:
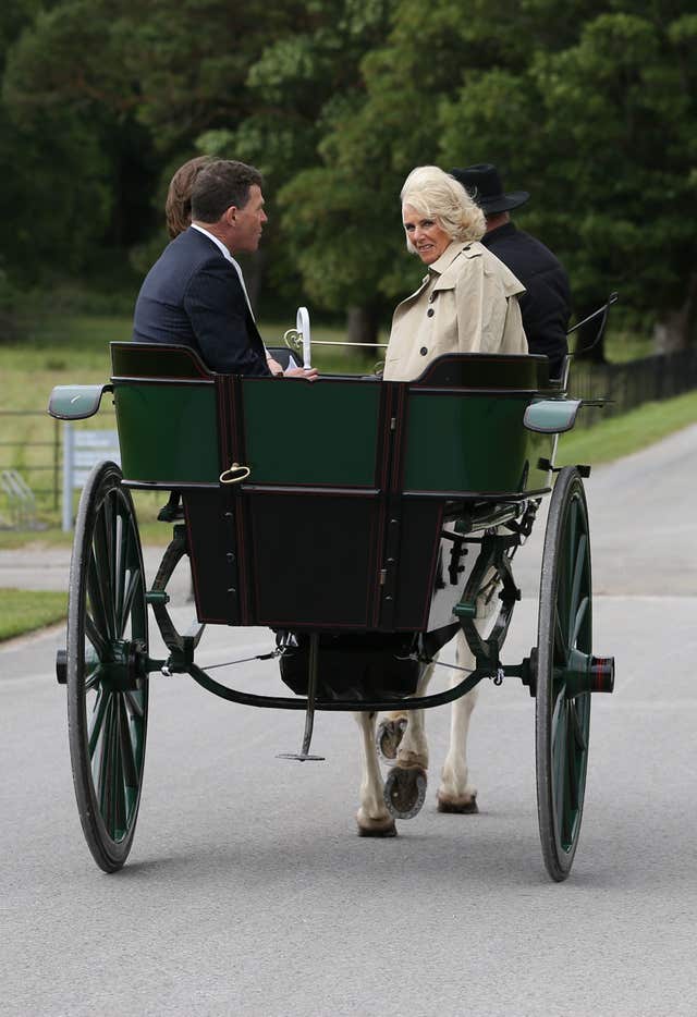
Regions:
[[[486,233],[481,243],[525,286],[518,302],[528,350],[548,356],[550,377],[559,377],[562,358],[568,352],[566,329],[571,317],[568,277],[561,261],[545,244],[512,222]]]

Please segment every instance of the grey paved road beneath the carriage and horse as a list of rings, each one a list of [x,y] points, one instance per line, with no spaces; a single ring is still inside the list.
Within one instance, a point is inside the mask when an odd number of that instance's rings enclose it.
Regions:
[[[440,816],[431,787],[400,837],[376,842],[354,835],[350,718],[322,714],[327,761],[298,765],[276,753],[299,745],[299,714],[157,679],[135,846],[106,877],[73,800],[51,677],[62,634],[0,651],[0,1014],[693,1017],[696,488],[697,427],[588,482],[595,641],[617,687],[594,701],[563,884],[541,862],[534,703],[513,683],[487,686],[473,722],[481,813]],[[534,640],[538,561],[531,542],[506,660]],[[257,629],[205,640],[204,663],[268,646]],[[225,676],[279,687],[272,663]],[[432,711],[435,770],[447,728]]]

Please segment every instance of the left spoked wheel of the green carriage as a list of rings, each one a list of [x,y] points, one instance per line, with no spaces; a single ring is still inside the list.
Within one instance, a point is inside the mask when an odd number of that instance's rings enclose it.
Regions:
[[[83,491],[70,571],[68,727],[83,832],[115,872],[133,842],[148,715],[140,539],[121,470],[100,463]]]

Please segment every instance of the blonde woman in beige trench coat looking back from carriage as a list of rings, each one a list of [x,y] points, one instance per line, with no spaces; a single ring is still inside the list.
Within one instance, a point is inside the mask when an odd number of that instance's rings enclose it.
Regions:
[[[418,378],[444,353],[527,353],[517,301],[525,287],[479,243],[484,212],[462,184],[421,166],[401,199],[406,248],[428,272],[394,311],[384,380]]]

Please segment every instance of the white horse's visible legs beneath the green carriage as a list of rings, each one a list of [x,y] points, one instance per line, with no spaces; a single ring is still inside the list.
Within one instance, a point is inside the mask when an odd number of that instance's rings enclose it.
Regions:
[[[477,598],[476,627],[484,637],[492,623],[496,600],[493,591],[498,589],[496,580],[486,583]],[[475,658],[462,632],[457,633],[455,644],[455,664],[467,672],[475,670]],[[428,664],[421,675],[416,697],[424,696],[433,674],[436,663]],[[464,674],[451,672],[450,685],[460,684]],[[437,793],[439,812],[477,812],[477,788],[469,781],[467,769],[467,733],[472,711],[478,696],[478,687],[473,688],[452,704],[450,722],[450,748],[441,772]],[[428,743],[424,725],[424,710],[404,710],[390,713],[380,725],[378,739],[387,758],[394,759],[390,772],[387,793],[384,791],[378,747],[376,740],[377,714],[356,713],[360,727],[363,749],[363,781],[356,820],[358,834],[368,837],[393,837],[396,835],[393,813],[388,808],[386,797],[393,805],[393,810],[402,818],[411,818],[420,809],[425,793],[428,771]]]

